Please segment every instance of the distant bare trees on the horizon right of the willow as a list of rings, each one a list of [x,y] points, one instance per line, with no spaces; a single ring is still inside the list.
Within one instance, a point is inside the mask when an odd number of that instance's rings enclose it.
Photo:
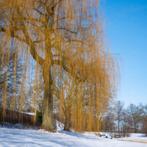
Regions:
[[[103,131],[147,134],[147,105],[130,104],[127,108],[121,101],[113,103],[103,116]]]

